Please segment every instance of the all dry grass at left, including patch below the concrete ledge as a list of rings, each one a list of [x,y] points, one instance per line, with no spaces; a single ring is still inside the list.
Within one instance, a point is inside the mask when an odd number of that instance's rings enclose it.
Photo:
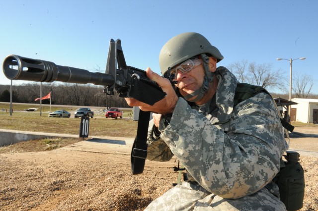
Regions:
[[[14,105],[14,110],[10,116],[9,104],[0,104],[0,129],[22,130],[47,133],[79,134],[80,118],[51,118],[48,117],[49,108],[44,108],[42,116],[39,111],[24,111],[26,108],[36,107],[29,105]],[[1,109],[2,108],[2,109]],[[54,107],[58,109],[72,110],[74,107]],[[7,110],[6,110],[7,109]],[[124,112],[124,117],[128,117],[129,112]],[[113,136],[134,138],[137,134],[138,121],[132,119],[111,119],[104,118],[104,112],[96,112],[94,118],[89,119],[89,136]],[[9,146],[0,147],[1,153],[22,153],[54,150],[76,142],[79,138],[55,138],[39,139],[20,142]]]

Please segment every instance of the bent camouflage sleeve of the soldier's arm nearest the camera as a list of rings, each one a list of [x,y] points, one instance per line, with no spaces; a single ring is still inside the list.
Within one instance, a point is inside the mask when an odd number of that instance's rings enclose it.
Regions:
[[[229,130],[224,132],[179,99],[161,138],[203,188],[236,199],[273,179],[287,144],[267,94],[240,103],[227,123]]]

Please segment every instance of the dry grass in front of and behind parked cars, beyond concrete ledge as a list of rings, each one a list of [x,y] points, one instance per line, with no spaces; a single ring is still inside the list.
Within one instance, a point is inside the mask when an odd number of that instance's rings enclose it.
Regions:
[[[30,107],[39,108],[40,105],[13,104],[13,113],[10,116],[10,105],[0,103],[0,128],[63,134],[79,133],[80,118],[49,118],[49,105],[42,105],[41,116],[39,110],[25,111]],[[60,109],[72,111],[76,108],[70,106],[51,107],[51,111]],[[131,110],[125,110],[124,117],[128,117],[130,113]],[[96,111],[94,112],[94,118],[89,120],[89,135],[135,137],[137,123],[137,121],[131,119],[106,119],[104,118],[104,112]]]

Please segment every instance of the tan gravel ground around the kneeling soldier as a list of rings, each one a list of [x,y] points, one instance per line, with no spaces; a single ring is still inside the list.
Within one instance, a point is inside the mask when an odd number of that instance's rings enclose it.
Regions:
[[[299,149],[307,141],[317,150],[316,137],[293,139],[291,146]],[[301,156],[301,162],[306,181],[302,211],[317,211],[318,158]],[[143,174],[131,175],[128,153],[57,149],[0,154],[0,210],[141,211],[177,179],[173,160],[168,167],[146,164]]]

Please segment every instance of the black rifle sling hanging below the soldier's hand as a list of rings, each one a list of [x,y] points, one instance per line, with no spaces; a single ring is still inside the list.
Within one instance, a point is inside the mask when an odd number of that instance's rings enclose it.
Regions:
[[[137,136],[131,150],[131,171],[132,174],[141,174],[144,171],[147,158],[147,134],[149,126],[150,111],[139,112]]]

